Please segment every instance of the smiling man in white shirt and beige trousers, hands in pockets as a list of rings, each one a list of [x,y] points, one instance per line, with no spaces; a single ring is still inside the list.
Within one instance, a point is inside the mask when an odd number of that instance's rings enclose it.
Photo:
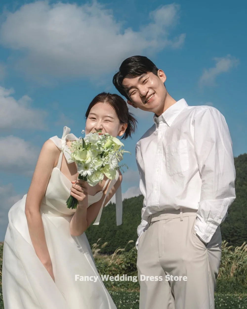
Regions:
[[[154,113],[136,144],[140,309],[213,309],[220,223],[235,199],[232,140],[216,108],[176,101],[165,80],[143,56],[124,60],[113,78],[128,104]]]

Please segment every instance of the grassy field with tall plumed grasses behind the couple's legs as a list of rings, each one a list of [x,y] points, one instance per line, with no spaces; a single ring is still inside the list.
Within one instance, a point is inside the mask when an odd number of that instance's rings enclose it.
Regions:
[[[106,245],[106,244],[104,244]],[[2,276],[2,243],[0,243],[0,275]],[[136,250],[117,249],[111,256],[100,255],[97,243],[93,245],[95,263],[100,274],[128,273],[136,275]],[[247,245],[234,250],[222,243],[222,260],[215,293],[215,309],[247,309]],[[114,282],[114,281],[113,281]],[[123,285],[104,282],[117,308],[139,309],[139,284]],[[4,309],[0,282],[0,309]],[[150,308],[151,309],[151,308]]]

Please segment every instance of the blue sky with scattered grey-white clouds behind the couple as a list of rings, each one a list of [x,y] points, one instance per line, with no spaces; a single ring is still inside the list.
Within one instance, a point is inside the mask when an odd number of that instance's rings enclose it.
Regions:
[[[81,136],[88,104],[116,93],[113,74],[132,55],[165,71],[170,95],[225,116],[235,156],[247,152],[245,1],[1,1],[0,240],[9,208],[27,193],[39,151],[63,127]],[[124,142],[123,197],[138,191],[135,144]]]

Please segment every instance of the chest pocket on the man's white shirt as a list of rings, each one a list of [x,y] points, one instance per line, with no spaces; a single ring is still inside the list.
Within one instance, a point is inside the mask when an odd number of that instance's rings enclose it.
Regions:
[[[180,139],[165,147],[169,176],[185,172],[189,169],[189,156],[186,139]]]

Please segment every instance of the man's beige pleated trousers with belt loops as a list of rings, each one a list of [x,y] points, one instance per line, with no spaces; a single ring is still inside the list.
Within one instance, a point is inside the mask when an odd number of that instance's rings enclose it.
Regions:
[[[194,230],[196,210],[163,211],[149,219],[137,251],[139,308],[214,309],[220,226],[205,246]]]

